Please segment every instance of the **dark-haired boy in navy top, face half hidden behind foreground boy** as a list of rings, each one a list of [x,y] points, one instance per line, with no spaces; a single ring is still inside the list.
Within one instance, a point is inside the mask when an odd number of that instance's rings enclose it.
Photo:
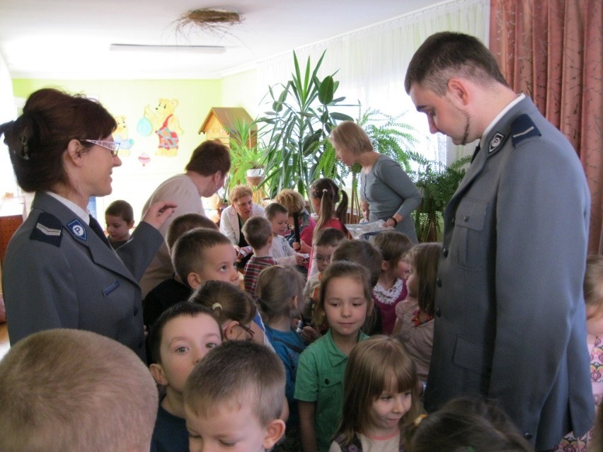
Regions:
[[[195,364],[222,343],[222,328],[205,306],[182,301],[159,316],[149,333],[149,343],[149,369],[165,389],[159,401],[151,452],[186,452],[184,383]]]

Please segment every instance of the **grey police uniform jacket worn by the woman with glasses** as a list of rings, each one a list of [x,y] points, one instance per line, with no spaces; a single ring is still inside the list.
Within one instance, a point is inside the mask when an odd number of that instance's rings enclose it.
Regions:
[[[141,222],[117,253],[61,202],[37,193],[8,244],[2,286],[11,344],[52,328],[89,330],[143,360],[138,285],[163,237]]]

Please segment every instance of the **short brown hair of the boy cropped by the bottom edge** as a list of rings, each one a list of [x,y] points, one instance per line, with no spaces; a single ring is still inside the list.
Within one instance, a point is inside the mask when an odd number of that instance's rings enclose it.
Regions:
[[[285,367],[275,352],[253,342],[224,342],[190,373],[184,402],[207,417],[219,405],[252,406],[260,425],[280,417],[285,403]]]

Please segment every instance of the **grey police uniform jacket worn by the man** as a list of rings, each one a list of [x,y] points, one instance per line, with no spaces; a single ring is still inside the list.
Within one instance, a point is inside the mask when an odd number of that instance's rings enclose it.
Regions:
[[[574,149],[528,98],[484,143],[444,212],[425,407],[482,393],[546,450],[594,419],[590,194]]]

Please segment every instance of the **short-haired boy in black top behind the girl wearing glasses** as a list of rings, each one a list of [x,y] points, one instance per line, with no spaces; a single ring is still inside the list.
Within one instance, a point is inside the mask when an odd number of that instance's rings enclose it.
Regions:
[[[194,289],[209,279],[239,284],[234,246],[215,229],[194,228],[183,233],[173,243],[171,255],[175,277],[166,279],[144,299],[143,318],[147,327],[167,308],[187,300]]]

